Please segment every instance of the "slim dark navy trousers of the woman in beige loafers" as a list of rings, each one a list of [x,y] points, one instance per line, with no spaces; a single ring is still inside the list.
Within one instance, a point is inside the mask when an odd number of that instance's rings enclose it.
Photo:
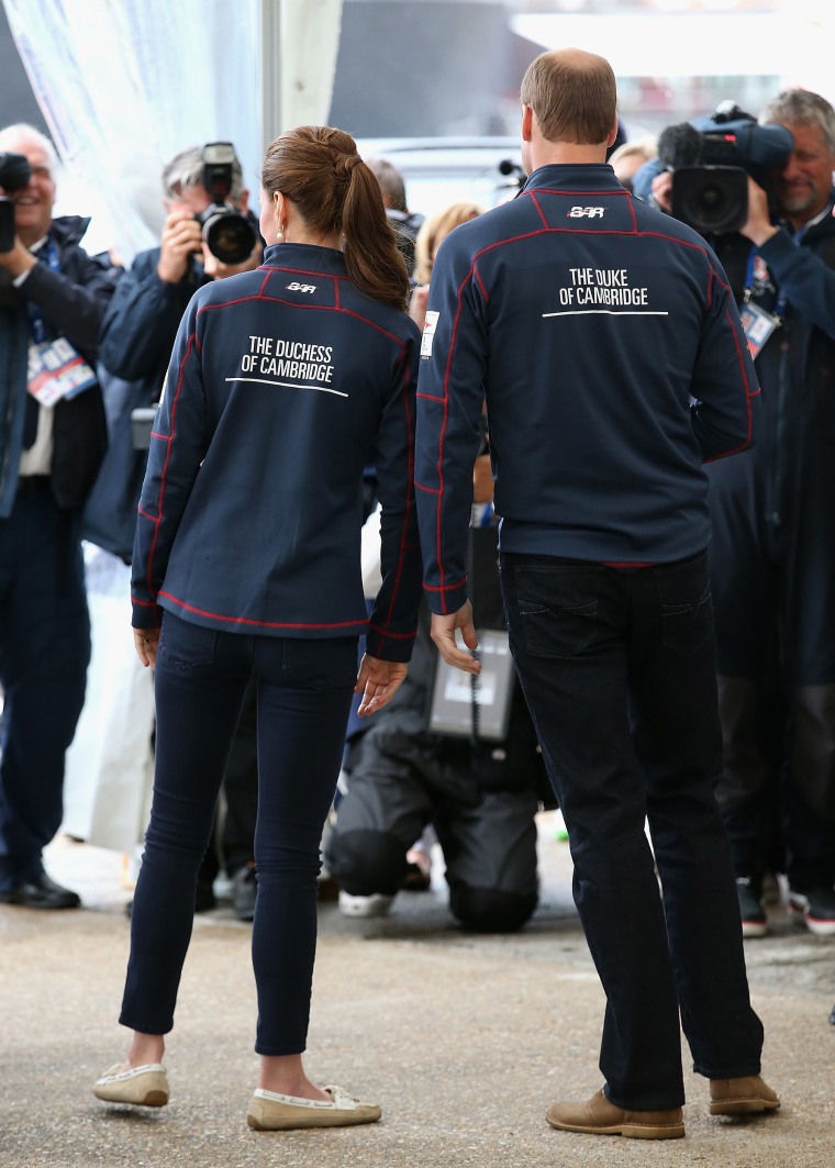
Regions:
[[[154,693],[151,821],[131,915],[119,1021],[167,1034],[192,936],[200,867],[244,694],[258,684],[256,1050],[305,1049],[316,944],[319,846],[356,681],[356,638],[217,632],[166,613]]]

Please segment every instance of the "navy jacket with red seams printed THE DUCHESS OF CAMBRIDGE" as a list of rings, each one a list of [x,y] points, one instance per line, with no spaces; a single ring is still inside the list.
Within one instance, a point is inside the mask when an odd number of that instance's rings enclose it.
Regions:
[[[168,609],[276,637],[368,633],[408,661],[420,557],[413,501],[419,335],[362,296],[341,252],[270,248],[262,267],[195,293],[148,454],[133,624]],[[383,583],[367,614],[362,475],[374,461]]]

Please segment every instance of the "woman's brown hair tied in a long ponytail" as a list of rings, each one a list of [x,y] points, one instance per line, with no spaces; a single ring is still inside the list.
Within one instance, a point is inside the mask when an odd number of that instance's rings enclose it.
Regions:
[[[270,144],[262,186],[293,202],[312,231],[342,237],[346,267],[361,292],[405,308],[409,273],[385,217],[380,185],[350,134],[330,126],[298,126]]]

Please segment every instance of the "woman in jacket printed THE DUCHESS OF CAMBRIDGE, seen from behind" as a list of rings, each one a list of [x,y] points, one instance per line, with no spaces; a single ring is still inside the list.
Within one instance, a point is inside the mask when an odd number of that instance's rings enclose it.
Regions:
[[[420,558],[413,501],[419,334],[376,179],[354,140],[301,126],[262,172],[264,264],[201,288],[152,434],[133,554],[137,652],[155,666],[154,799],[131,918],[126,1059],[93,1087],[165,1104],[162,1055],[197,869],[248,683],[258,686],[255,1128],[380,1118],[306,1076],[322,827],[353,695],[406,674]],[[363,470],[377,468],[382,585],[362,588]],[[357,639],[366,653],[357,676]]]

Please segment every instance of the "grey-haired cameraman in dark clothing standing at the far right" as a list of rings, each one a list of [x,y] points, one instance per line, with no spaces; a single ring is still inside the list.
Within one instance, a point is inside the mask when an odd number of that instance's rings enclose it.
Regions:
[[[744,934],[766,933],[763,880],[781,871],[796,920],[835,936],[835,110],[787,89],[757,128],[778,127],[791,151],[761,178],[747,169],[744,218],[728,236],[761,401],[753,447],[707,468],[717,797]],[[652,182],[673,214],[677,182],[679,172]]]

